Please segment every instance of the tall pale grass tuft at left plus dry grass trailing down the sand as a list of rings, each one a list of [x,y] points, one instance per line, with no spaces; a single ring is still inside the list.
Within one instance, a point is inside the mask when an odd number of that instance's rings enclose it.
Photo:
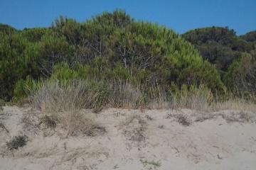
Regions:
[[[105,128],[95,125],[79,112],[81,108],[94,108],[95,113],[102,110],[100,94],[87,81],[73,81],[67,86],[60,86],[58,82],[46,83],[30,99],[33,108],[44,113],[38,123],[38,127],[43,125],[41,129],[58,128],[65,137],[105,133]]]

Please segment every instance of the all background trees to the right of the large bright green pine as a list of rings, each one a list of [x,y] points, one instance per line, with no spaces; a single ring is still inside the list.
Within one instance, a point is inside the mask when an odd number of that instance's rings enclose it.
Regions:
[[[215,64],[228,89],[255,92],[256,33],[238,37],[228,28],[200,28],[182,35]]]

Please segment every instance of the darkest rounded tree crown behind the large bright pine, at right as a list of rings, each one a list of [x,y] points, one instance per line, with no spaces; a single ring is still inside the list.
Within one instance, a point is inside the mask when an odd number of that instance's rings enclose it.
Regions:
[[[228,28],[200,28],[188,31],[182,36],[201,52],[203,59],[215,64],[223,72],[242,52],[252,50],[248,42],[238,38],[235,31]]]

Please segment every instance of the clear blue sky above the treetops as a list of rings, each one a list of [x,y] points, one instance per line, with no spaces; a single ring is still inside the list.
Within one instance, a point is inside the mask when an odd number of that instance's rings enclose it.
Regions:
[[[60,15],[82,22],[116,8],[178,33],[207,26],[228,26],[238,35],[256,30],[256,0],[0,0],[0,23],[48,27]]]

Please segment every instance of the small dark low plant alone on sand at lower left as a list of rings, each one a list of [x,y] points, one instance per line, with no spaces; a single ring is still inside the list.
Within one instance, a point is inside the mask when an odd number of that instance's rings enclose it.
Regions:
[[[9,142],[6,142],[6,146],[9,150],[18,149],[18,147],[23,147],[28,142],[28,137],[26,135],[15,136]]]

